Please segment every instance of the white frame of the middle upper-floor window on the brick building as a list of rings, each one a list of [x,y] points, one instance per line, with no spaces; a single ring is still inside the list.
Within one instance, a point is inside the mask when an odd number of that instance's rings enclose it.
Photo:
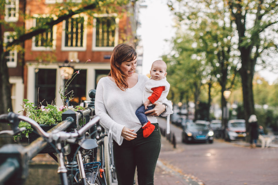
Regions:
[[[66,21],[64,20],[63,21],[63,32],[62,32],[62,46],[61,46],[61,50],[62,51],[86,51],[86,48],[87,48],[87,22],[88,22],[88,16],[86,14],[84,14],[84,13],[72,16],[72,18],[76,18],[76,17],[83,17],[84,18],[84,25],[83,25],[83,46],[82,47],[69,47],[69,46],[66,47],[65,46]]]

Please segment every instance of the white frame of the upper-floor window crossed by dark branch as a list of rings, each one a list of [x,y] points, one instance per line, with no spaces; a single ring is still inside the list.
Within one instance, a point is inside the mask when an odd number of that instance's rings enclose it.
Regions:
[[[43,15],[39,15],[39,14],[34,14],[33,15],[36,18],[46,18],[49,17],[50,15],[47,14],[43,14]],[[36,18],[33,18],[33,26],[36,27]],[[56,17],[53,16],[53,18],[55,19]],[[36,37],[32,37],[32,51],[52,51],[56,49],[56,36],[57,36],[57,25],[53,25],[52,27],[52,32],[53,32],[53,41],[52,41],[52,47],[43,47],[43,46],[36,46]]]

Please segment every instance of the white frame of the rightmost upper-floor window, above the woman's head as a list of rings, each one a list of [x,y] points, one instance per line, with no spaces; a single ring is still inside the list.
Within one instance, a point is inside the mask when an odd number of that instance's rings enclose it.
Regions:
[[[94,17],[115,17],[116,29],[115,29],[115,40],[114,46],[112,47],[96,47],[96,18],[94,18],[93,27],[93,40],[92,40],[92,51],[113,51],[114,47],[118,45],[119,40],[119,21],[117,14],[94,14]]]

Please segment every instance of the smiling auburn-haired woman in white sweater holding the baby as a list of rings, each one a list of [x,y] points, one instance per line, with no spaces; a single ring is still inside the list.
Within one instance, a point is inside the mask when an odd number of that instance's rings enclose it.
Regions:
[[[117,45],[110,59],[108,77],[99,80],[96,88],[95,111],[100,124],[113,139],[118,184],[131,185],[137,167],[138,184],[153,184],[153,175],[161,147],[161,134],[154,116],[173,113],[171,101],[156,104],[146,112],[155,131],[143,137],[142,125],[135,111],[142,103],[142,93],[148,77],[134,73],[136,51],[127,44]]]

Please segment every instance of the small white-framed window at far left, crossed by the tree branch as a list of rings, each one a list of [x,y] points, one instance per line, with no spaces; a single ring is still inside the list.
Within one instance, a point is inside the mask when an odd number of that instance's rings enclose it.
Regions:
[[[4,32],[5,45],[14,40],[13,34],[15,34],[15,33],[14,32]],[[8,67],[16,67],[17,66],[17,50],[12,49],[12,50],[8,51],[5,55],[5,59],[6,59]]]

